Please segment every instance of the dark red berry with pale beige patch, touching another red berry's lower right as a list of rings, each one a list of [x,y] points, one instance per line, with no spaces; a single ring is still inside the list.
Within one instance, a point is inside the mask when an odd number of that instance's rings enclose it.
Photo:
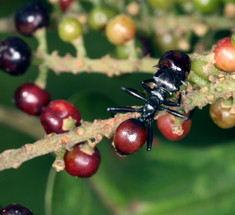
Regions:
[[[41,113],[41,123],[49,133],[64,133],[80,124],[78,109],[65,100],[54,100]]]

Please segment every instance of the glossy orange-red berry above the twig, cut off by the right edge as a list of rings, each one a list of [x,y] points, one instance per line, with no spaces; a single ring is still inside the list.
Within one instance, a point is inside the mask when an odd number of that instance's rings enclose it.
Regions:
[[[216,44],[214,50],[215,65],[225,72],[235,72],[235,47],[230,37],[225,37]]]

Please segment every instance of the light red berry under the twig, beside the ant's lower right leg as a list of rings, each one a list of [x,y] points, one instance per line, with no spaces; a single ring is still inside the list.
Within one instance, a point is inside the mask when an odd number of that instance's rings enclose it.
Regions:
[[[158,129],[161,131],[161,133],[169,140],[180,140],[183,137],[185,137],[188,132],[190,131],[192,120],[183,120],[182,123],[182,134],[178,135],[176,133],[173,133],[173,126],[175,123],[175,116],[167,113],[165,115],[162,115],[157,120],[157,126]]]

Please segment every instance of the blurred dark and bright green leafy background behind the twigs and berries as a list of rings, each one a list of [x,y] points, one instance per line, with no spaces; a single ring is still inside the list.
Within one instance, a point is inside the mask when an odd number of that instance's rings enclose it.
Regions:
[[[28,1],[0,1],[0,15],[14,13],[25,2]],[[9,35],[12,34],[1,33],[0,40]],[[37,46],[33,38],[23,39],[32,48]],[[59,40],[55,30],[48,31],[48,42],[50,51],[58,49],[61,55],[75,53]],[[103,33],[92,31],[85,35],[85,44],[93,58],[114,49]],[[0,104],[16,109],[15,89],[26,81],[34,81],[37,72],[35,66],[20,77],[0,72]],[[51,71],[47,90],[52,100],[72,102],[84,120],[93,121],[109,118],[108,106],[141,104],[120,87],[142,91],[141,80],[150,76],[139,73],[109,78],[95,73],[55,75]],[[0,172],[0,205],[19,203],[36,215],[235,214],[235,129],[218,128],[208,113],[208,107],[195,111],[191,132],[181,141],[166,140],[155,126],[151,152],[143,147],[134,155],[119,158],[111,140],[104,139],[98,145],[102,155],[100,169],[90,179],[74,178],[64,171],[56,174],[51,170],[51,154],[28,161],[19,169],[4,170]],[[1,119],[0,137],[0,151],[36,141],[3,125]]]

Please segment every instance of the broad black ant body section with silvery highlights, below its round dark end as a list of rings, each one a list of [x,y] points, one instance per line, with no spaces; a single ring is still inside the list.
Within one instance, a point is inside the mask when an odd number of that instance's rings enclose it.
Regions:
[[[167,66],[161,67],[153,76],[153,82],[160,89],[167,91],[169,94],[179,91],[181,84],[184,82],[184,76]]]

